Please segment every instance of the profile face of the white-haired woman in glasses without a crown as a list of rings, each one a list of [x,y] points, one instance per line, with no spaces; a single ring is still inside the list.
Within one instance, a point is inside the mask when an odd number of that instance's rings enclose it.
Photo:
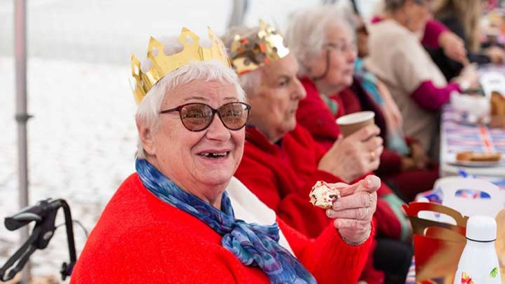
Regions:
[[[328,73],[321,79],[321,83],[332,89],[341,90],[352,84],[354,62],[357,57],[356,44],[351,32],[337,22],[330,23],[326,27],[325,36],[323,49],[309,63],[310,75],[313,77],[323,75],[329,63]]]

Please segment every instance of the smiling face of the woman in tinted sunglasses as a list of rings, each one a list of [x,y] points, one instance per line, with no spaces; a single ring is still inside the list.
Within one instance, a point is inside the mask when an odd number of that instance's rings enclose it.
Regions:
[[[193,102],[219,108],[236,101],[239,98],[232,84],[194,80],[167,93],[161,109]],[[144,135],[147,139],[142,141],[153,165],[190,192],[228,184],[242,158],[244,128],[225,128],[217,113],[211,125],[200,132],[187,130],[177,111],[163,113],[159,119],[159,129],[150,136]],[[192,193],[198,196],[197,192]]]

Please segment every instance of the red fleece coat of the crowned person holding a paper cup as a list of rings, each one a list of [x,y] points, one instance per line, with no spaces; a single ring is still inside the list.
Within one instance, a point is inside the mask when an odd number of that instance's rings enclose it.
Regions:
[[[306,236],[316,237],[330,219],[325,210],[312,206],[309,192],[319,180],[342,182],[318,169],[324,153],[311,134],[299,125],[284,135],[280,146],[270,143],[257,128],[247,127],[244,155],[235,177],[288,225]],[[388,194],[391,190],[382,185],[378,193]],[[399,238],[401,224],[386,201],[378,200],[374,216],[377,235]]]

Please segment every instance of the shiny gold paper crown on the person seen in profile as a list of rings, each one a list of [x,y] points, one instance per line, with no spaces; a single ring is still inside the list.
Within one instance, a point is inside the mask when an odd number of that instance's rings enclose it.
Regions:
[[[260,31],[251,37],[235,35],[230,47],[230,61],[238,75],[256,70],[289,53],[277,30],[260,20]]]

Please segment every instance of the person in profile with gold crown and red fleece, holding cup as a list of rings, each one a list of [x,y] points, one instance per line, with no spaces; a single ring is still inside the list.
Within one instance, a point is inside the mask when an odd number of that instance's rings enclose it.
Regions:
[[[254,109],[246,128],[244,157],[235,176],[288,224],[307,236],[317,236],[329,215],[306,201],[311,187],[317,180],[354,183],[370,174],[377,168],[383,149],[382,138],[377,137],[380,130],[372,125],[345,143],[337,141],[322,147],[311,130],[296,121],[298,102],[306,97],[306,91],[297,78],[294,53],[284,46],[282,36],[262,23],[256,28],[231,29],[224,42]],[[316,111],[312,115],[317,116]],[[385,184],[378,192],[378,234],[394,236],[385,238],[385,243],[408,239],[410,229],[399,209],[401,200]],[[396,203],[392,205],[388,199]],[[410,248],[402,256],[402,264],[408,268]],[[403,280],[405,274],[406,269]],[[382,276],[377,271],[370,278],[380,281]]]

